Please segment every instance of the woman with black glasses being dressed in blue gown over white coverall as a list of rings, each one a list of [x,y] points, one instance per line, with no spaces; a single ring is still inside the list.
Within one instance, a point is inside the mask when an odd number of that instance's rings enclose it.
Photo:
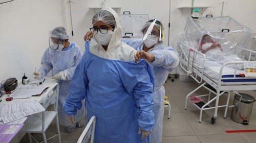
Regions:
[[[96,116],[94,142],[150,142],[154,122],[154,79],[145,60],[135,63],[136,50],[120,41],[119,16],[110,7],[92,18],[96,45],[86,52],[72,79],[65,108],[73,116],[84,104]]]

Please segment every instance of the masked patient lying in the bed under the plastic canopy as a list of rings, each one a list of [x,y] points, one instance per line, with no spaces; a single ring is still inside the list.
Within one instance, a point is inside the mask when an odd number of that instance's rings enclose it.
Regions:
[[[243,61],[237,54],[223,52],[221,44],[216,40],[212,40],[208,34],[205,34],[202,37],[202,43],[200,44],[199,51],[205,54],[206,58],[214,60],[220,64]],[[234,67],[234,64],[229,65],[229,67],[230,66]],[[238,64],[237,69],[244,69],[244,65]]]

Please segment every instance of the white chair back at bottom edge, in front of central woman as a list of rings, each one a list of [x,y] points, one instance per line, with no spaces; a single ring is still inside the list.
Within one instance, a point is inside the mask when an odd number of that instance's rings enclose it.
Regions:
[[[95,124],[96,124],[96,117],[92,116],[88,124],[86,125],[86,128],[84,128],[82,134],[80,135],[77,143],[84,143],[88,142],[91,136],[91,143],[93,143],[94,140],[94,133],[95,133]]]

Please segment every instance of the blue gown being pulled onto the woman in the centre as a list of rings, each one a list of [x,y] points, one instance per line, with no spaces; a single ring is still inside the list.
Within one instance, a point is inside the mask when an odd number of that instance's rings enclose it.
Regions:
[[[152,130],[153,74],[144,60],[138,64],[100,58],[86,52],[77,66],[63,108],[75,115],[86,98],[88,118],[96,116],[94,142],[150,142],[139,128]]]

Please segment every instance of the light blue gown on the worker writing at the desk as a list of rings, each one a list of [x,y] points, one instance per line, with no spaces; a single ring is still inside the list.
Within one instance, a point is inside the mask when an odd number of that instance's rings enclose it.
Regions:
[[[82,53],[79,46],[70,42],[69,47],[62,51],[56,51],[48,48],[41,59],[41,67],[38,69],[43,76],[46,76],[52,70],[52,76],[60,71],[65,73],[65,77],[61,77],[59,81],[59,98],[58,98],[58,115],[59,123],[62,126],[70,126],[66,118],[66,113],[62,106],[66,101],[68,89],[73,77],[75,67],[82,58]],[[63,78],[63,79],[62,79]],[[80,121],[86,115],[86,109],[83,107],[75,116],[75,122]]]

